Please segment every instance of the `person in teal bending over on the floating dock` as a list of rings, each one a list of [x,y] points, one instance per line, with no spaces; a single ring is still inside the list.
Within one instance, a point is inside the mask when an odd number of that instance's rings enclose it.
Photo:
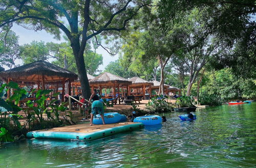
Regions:
[[[89,105],[91,103],[91,100],[93,100],[93,103],[92,103],[92,113],[91,113],[90,125],[91,126],[93,125],[93,117],[96,117],[96,113],[98,113],[100,115],[103,125],[105,125],[103,104],[99,100],[99,96],[97,95],[96,89],[94,89],[94,92],[89,99]]]

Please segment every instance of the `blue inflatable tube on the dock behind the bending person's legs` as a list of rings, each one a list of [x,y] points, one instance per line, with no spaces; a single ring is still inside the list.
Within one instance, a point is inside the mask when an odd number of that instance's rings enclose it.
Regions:
[[[119,113],[104,113],[105,124],[118,123],[120,120],[121,115]],[[96,118],[93,119],[93,124],[103,124],[100,115],[96,115]]]

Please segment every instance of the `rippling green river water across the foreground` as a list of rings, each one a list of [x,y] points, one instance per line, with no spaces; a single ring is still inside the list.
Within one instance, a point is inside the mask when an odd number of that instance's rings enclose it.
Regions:
[[[92,142],[28,139],[0,146],[0,167],[256,167],[256,103],[197,109]]]

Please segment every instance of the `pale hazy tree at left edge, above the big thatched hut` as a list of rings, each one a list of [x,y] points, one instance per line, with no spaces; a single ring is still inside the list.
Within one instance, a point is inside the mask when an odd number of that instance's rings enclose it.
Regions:
[[[18,36],[9,30],[0,33],[0,65],[12,68],[19,59],[20,46]]]

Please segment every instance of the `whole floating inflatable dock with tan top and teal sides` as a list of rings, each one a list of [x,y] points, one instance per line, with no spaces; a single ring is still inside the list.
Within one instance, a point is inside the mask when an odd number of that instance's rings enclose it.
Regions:
[[[45,130],[31,131],[27,133],[28,138],[56,138],[77,139],[80,141],[92,141],[94,139],[113,135],[120,132],[132,131],[143,127],[142,123],[114,123],[106,125],[77,124],[65,127],[56,127]]]

